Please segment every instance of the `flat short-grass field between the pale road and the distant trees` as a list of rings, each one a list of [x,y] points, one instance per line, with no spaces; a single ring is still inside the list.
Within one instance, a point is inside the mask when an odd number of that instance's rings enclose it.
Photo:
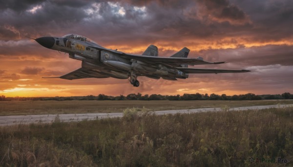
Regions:
[[[256,101],[0,101],[0,115],[29,115],[53,113],[94,113],[122,112],[126,108],[143,107],[147,111],[198,109],[214,107],[243,107],[273,104],[293,104],[293,100],[256,100]]]

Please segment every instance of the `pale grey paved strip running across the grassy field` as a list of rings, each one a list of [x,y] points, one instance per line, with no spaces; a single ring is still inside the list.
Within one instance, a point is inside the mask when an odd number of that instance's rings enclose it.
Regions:
[[[269,105],[269,106],[248,106],[248,107],[234,107],[229,108],[229,111],[245,111],[245,110],[259,110],[269,108],[284,108],[293,107],[289,105]],[[195,113],[195,112],[206,112],[206,111],[222,111],[222,108],[203,108],[203,109],[190,109],[190,110],[167,110],[167,111],[154,111],[157,115],[163,114],[175,114],[175,113]],[[0,126],[8,126],[15,124],[30,124],[30,123],[52,123],[56,119],[57,114],[46,114],[46,115],[11,115],[11,116],[0,116]],[[69,121],[81,121],[84,119],[103,119],[122,117],[122,112],[112,113],[78,113],[78,114],[59,114],[59,119],[64,122]]]

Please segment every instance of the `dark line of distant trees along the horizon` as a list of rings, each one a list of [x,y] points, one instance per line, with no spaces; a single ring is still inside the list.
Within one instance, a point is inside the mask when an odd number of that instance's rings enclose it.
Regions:
[[[110,96],[105,94],[87,95],[87,96],[70,96],[70,97],[5,97],[4,95],[0,96],[0,101],[12,101],[12,100],[269,100],[269,99],[293,99],[293,94],[291,93],[282,93],[282,94],[262,94],[255,95],[253,93],[239,94],[239,95],[226,95],[226,94],[188,94],[183,95],[161,95],[161,94],[145,94],[141,93],[131,93],[128,95],[119,95],[119,96]]]

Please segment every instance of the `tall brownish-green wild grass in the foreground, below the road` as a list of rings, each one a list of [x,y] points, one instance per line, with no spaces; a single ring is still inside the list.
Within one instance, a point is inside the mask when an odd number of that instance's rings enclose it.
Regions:
[[[175,115],[126,111],[122,118],[0,128],[5,167],[278,167],[292,161],[292,107]]]

